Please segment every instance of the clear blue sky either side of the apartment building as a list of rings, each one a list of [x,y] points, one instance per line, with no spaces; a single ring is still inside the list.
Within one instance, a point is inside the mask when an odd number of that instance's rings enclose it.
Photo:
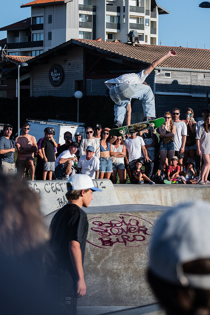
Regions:
[[[22,0],[23,1],[23,0]],[[102,0],[99,0],[102,1]],[[27,3],[28,1],[24,2]],[[159,16],[159,43],[163,46],[183,46],[210,49],[210,9],[201,9],[202,0],[157,0],[157,3],[170,11]],[[19,0],[7,0],[1,3],[0,27],[15,23],[31,16],[31,8],[20,9]],[[0,39],[6,32],[0,32]]]

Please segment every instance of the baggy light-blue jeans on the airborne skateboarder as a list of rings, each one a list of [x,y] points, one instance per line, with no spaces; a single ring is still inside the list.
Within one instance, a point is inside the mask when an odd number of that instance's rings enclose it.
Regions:
[[[115,120],[123,123],[131,98],[142,100],[144,116],[155,117],[155,97],[152,89],[145,84],[114,84],[109,91],[111,99],[115,102]]]

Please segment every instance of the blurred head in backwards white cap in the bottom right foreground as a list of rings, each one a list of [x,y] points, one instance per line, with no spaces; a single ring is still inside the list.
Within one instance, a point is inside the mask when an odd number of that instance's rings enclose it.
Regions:
[[[210,314],[210,203],[167,211],[157,221],[148,280],[167,314]]]

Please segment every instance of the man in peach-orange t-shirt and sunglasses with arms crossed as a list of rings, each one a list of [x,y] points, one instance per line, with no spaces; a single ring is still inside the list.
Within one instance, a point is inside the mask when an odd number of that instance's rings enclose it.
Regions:
[[[31,180],[34,180],[34,153],[37,152],[37,141],[34,136],[29,135],[29,123],[25,122],[21,125],[22,135],[15,139],[15,146],[17,148],[17,174],[23,177],[25,168],[29,169]]]

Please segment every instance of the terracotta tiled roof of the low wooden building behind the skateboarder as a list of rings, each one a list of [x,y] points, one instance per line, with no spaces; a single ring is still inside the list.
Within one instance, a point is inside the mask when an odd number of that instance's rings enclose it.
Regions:
[[[137,62],[151,63],[169,50],[176,50],[177,57],[164,60],[159,67],[189,68],[210,70],[210,50],[196,48],[182,48],[172,46],[136,45],[114,42],[75,39],[82,46],[92,47],[98,51],[116,54]]]

